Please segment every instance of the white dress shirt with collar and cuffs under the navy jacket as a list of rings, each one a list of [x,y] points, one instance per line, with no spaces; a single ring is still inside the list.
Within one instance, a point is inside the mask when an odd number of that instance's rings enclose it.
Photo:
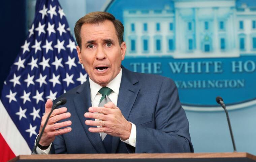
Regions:
[[[121,79],[122,79],[122,69],[119,72],[119,74],[113,79],[111,80],[111,82],[109,82],[106,87],[110,88],[111,90],[113,90],[113,92],[111,92],[108,97],[110,98],[110,100],[117,105],[117,99],[118,99],[118,94],[119,94],[119,88],[120,88],[120,84],[121,84]],[[102,88],[100,85],[98,85],[97,83],[93,82],[93,80],[89,77],[89,83],[90,83],[90,90],[91,90],[91,102],[92,102],[92,106],[94,107],[98,107],[99,102],[100,102],[100,98],[102,97],[102,95],[99,93],[99,90]],[[89,107],[88,107],[89,108]],[[95,119],[97,121],[97,119]],[[131,122],[130,122],[131,123]],[[136,126],[132,124],[132,128],[131,128],[131,134],[130,137],[123,141],[133,147],[136,146]],[[98,126],[99,127],[99,126]],[[100,133],[101,136],[101,133]],[[37,139],[37,138],[36,138]],[[51,145],[50,147],[46,150],[41,150],[38,147],[36,148],[36,151],[38,154],[49,154],[50,153],[50,149],[51,149]]]

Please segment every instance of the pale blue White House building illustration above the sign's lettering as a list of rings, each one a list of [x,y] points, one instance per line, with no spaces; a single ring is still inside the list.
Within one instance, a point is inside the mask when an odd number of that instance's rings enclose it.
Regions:
[[[239,57],[256,53],[256,8],[235,0],[173,0],[124,10],[127,56]]]

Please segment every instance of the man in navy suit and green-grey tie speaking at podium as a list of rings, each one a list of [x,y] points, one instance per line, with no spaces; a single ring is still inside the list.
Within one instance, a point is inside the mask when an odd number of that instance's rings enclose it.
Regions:
[[[122,23],[110,13],[92,12],[76,22],[74,32],[89,78],[60,96],[67,103],[53,111],[37,152],[193,152],[173,81],[121,65],[126,51]],[[46,101],[39,133],[52,105]]]

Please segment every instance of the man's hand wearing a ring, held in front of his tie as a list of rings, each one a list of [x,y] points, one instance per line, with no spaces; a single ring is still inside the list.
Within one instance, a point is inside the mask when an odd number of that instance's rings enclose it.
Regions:
[[[104,107],[89,107],[89,112],[85,113],[85,117],[102,120],[86,120],[86,125],[102,126],[99,128],[90,127],[90,132],[104,132],[120,137],[122,140],[127,140],[130,137],[132,125],[124,118],[121,110],[113,102],[106,103]]]

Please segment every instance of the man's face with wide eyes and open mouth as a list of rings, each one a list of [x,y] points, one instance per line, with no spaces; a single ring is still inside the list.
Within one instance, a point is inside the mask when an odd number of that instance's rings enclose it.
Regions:
[[[106,86],[121,70],[125,42],[120,46],[114,24],[108,20],[99,24],[84,24],[81,40],[82,49],[76,46],[79,62],[95,83]]]

